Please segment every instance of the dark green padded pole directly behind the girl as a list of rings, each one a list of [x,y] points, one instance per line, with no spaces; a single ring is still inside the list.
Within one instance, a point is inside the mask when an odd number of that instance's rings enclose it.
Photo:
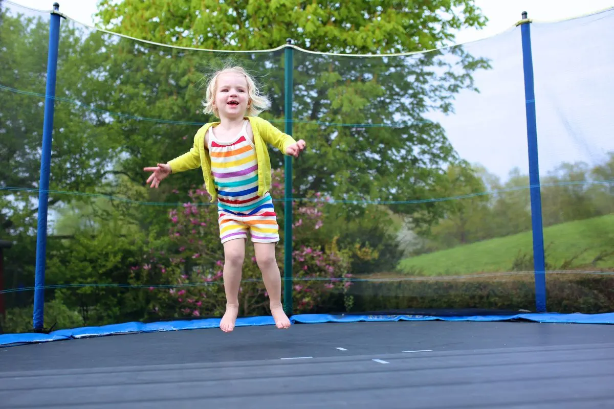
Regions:
[[[292,39],[286,40],[292,44]],[[294,69],[293,48],[286,47],[286,70],[284,72],[284,113],[286,116],[286,134],[292,136],[292,71]],[[285,156],[286,177],[284,201],[284,312],[292,314],[292,156]]]

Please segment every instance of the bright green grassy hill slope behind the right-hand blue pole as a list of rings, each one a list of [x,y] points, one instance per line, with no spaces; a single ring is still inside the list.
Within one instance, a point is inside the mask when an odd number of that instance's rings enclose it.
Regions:
[[[546,227],[544,243],[550,269],[589,266],[589,269],[614,270],[614,215]],[[600,253],[610,254],[591,266]],[[530,270],[532,254],[529,231],[406,258],[400,261],[399,269],[411,275],[507,272],[519,270],[513,266],[520,255],[525,257],[523,270]]]

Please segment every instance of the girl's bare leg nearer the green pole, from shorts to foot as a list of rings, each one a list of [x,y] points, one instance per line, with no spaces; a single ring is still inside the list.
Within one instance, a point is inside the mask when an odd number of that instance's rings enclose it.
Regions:
[[[275,243],[254,243],[254,250],[256,262],[262,272],[262,279],[271,302],[271,315],[273,315],[275,325],[281,329],[289,328],[290,319],[281,305],[281,275],[275,259]]]

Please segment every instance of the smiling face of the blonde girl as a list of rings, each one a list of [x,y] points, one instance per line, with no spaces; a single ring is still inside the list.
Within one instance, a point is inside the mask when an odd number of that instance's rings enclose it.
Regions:
[[[249,88],[244,75],[223,72],[217,77],[214,107],[218,116],[227,119],[243,118],[249,106]]]

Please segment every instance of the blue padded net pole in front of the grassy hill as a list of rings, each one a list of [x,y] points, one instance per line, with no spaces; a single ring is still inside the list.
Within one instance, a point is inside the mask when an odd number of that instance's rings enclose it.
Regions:
[[[535,115],[535,90],[533,57],[531,55],[530,20],[523,12],[521,26],[523,40],[524,96],[527,111],[527,138],[529,145],[529,184],[531,195],[531,222],[533,230],[533,265],[535,270],[535,307],[546,311],[546,267],[543,248],[542,194],[540,191],[539,161],[537,154],[537,118]]]

